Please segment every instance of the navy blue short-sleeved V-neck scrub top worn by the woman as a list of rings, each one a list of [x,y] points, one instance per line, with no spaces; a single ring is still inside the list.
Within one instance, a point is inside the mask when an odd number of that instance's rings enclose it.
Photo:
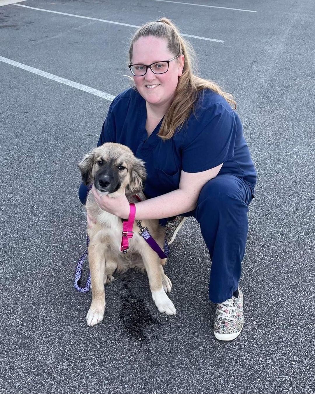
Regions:
[[[223,97],[209,89],[199,93],[195,115],[166,141],[157,136],[162,120],[148,137],[146,119],[146,101],[132,88],[124,91],[112,101],[98,146],[127,145],[145,162],[147,198],[177,190],[181,170],[196,173],[221,163],[219,174],[242,178],[254,195],[257,176],[241,121]]]

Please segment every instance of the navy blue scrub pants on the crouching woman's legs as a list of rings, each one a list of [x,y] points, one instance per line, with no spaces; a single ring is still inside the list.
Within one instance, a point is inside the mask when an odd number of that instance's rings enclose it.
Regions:
[[[81,185],[79,198],[83,204],[86,193]],[[226,301],[238,289],[252,197],[247,182],[230,174],[217,175],[201,189],[196,209],[182,215],[193,216],[200,224],[212,262],[209,299],[214,303]]]

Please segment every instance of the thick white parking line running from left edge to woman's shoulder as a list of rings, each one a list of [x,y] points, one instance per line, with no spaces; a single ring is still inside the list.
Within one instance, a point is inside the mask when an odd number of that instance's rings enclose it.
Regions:
[[[108,101],[112,101],[115,98],[115,96],[109,95],[108,93],[93,89],[92,87],[89,87],[89,86],[78,84],[77,82],[73,82],[73,81],[70,81],[65,78],[61,78],[60,76],[50,74],[49,72],[46,72],[46,71],[35,69],[34,67],[30,67],[26,64],[18,63],[15,60],[3,58],[2,56],[0,56],[0,61],[3,61],[4,63],[7,63],[7,64],[11,64],[12,66],[15,66],[15,67],[19,67],[20,69],[23,69],[23,70],[33,72],[34,74],[44,76],[45,78],[52,79],[53,81],[59,82],[61,84],[75,87],[76,89],[83,90],[87,93],[90,93],[91,95],[101,97],[102,99],[105,99]]]

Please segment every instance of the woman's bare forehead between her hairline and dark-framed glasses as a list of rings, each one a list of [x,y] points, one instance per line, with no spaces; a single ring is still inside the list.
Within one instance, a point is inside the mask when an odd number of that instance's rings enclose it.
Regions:
[[[151,64],[172,57],[168,41],[158,37],[140,37],[133,44],[132,63]]]

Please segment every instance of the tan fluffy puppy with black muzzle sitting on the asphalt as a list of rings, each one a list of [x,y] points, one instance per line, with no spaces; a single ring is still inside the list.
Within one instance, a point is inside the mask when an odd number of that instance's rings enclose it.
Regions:
[[[146,168],[142,160],[136,158],[128,147],[118,143],[105,143],[86,154],[78,163],[83,184],[94,184],[100,194],[111,198],[125,193],[129,203],[135,203],[143,193]],[[122,220],[99,208],[92,192],[88,194],[85,205],[87,213],[96,223],[87,227],[90,238],[88,245],[88,264],[91,273],[92,303],[87,313],[87,325],[95,325],[103,320],[105,312],[104,285],[114,280],[114,271],[124,272],[128,268],[138,268],[147,272],[152,298],[160,312],[176,314],[167,292],[172,289],[170,279],[165,275],[165,259],[160,259],[144,238],[138,233],[136,221],[133,238],[129,239],[127,253],[120,251],[122,240]],[[164,228],[157,219],[142,220],[151,236],[163,250]]]

